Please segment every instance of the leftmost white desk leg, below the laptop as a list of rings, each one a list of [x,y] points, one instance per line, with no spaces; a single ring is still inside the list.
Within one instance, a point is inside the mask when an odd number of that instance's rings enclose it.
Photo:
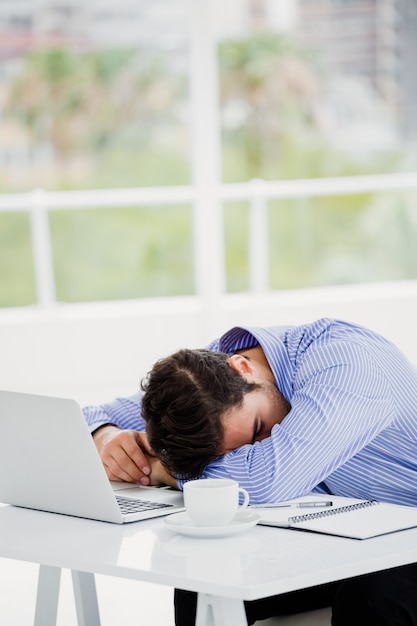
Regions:
[[[56,626],[61,568],[39,566],[34,626]]]

